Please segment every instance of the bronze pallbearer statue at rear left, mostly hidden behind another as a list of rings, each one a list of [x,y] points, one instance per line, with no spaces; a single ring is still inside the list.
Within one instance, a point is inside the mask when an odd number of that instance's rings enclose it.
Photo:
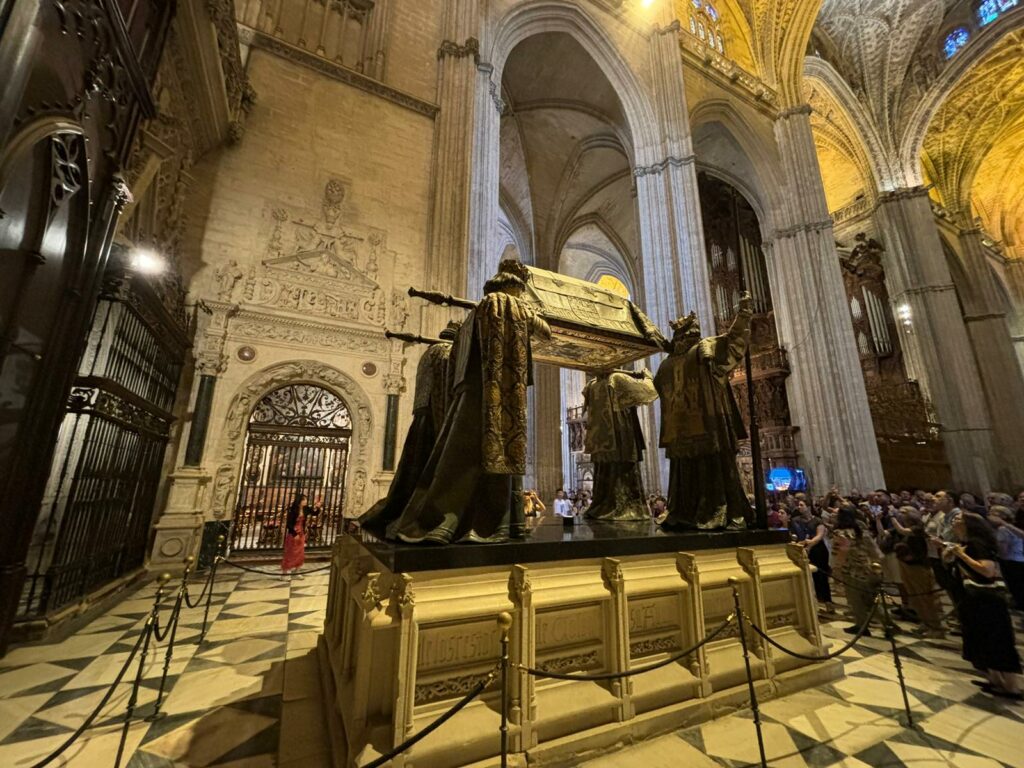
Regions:
[[[427,465],[437,435],[440,434],[444,414],[451,402],[449,357],[462,321],[452,321],[438,334],[439,339],[422,339],[404,334],[389,334],[409,342],[428,343],[430,346],[420,357],[416,369],[416,390],[413,394],[413,423],[406,435],[401,459],[387,497],[381,499],[359,518],[359,524],[376,534],[401,514],[416,490],[416,483]]]

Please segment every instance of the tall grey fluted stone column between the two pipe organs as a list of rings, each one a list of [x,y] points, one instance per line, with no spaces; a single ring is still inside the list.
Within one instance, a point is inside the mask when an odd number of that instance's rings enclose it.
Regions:
[[[764,244],[801,464],[819,490],[880,487],[882,462],[840,273],[808,105],[775,123],[785,188]]]

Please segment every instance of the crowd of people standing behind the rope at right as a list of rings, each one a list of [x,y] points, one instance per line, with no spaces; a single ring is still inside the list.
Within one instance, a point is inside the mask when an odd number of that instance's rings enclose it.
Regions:
[[[833,488],[821,498],[780,498],[768,522],[807,550],[822,617],[838,617],[833,590],[842,590],[853,621],[846,631],[869,635],[885,589],[898,597],[896,616],[918,625],[915,634],[963,638],[964,658],[986,678],[978,681],[983,690],[1022,698],[1011,612],[1024,611],[1024,492],[844,497]]]

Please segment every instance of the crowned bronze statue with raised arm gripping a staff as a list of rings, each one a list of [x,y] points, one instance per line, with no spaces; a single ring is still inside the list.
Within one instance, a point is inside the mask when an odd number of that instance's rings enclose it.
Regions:
[[[692,312],[672,323],[669,356],[654,386],[662,399],[660,444],[671,464],[668,528],[745,528],[753,510],[736,468],[746,430],[729,386],[751,339],[751,295],[721,336],[700,338]]]

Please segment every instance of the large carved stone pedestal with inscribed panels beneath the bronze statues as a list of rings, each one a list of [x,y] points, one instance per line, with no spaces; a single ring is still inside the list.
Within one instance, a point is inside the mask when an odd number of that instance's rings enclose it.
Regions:
[[[502,611],[513,615],[514,765],[579,764],[615,743],[748,706],[735,625],[678,663],[613,682],[536,679],[516,669],[617,672],[668,658],[732,612],[731,578],[739,580],[744,611],[779,643],[802,653],[822,649],[801,548],[692,549],[394,572],[346,537],[334,553],[319,645],[335,766],[366,765],[471,690],[500,656]],[[443,553],[437,556],[442,562]],[[842,676],[839,662],[783,656],[753,633],[748,642],[759,696]],[[499,694],[496,682],[390,765],[490,765],[499,750]]]

